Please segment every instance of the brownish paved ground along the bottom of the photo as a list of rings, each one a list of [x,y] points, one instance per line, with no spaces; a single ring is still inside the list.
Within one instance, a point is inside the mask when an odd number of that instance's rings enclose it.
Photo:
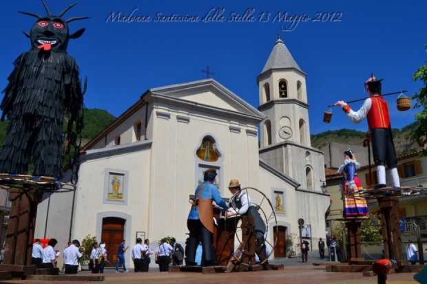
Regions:
[[[114,269],[105,270],[105,284],[180,284],[180,283],[207,283],[207,284],[377,284],[377,276],[363,276],[362,272],[326,272],[324,265],[313,263],[325,263],[318,259],[318,254],[312,252],[308,263],[301,263],[296,259],[275,259],[274,264],[283,264],[284,270],[271,270],[262,272],[233,272],[229,274],[202,274],[198,272],[158,272],[156,267],[151,267],[148,273],[114,273]],[[333,263],[331,263],[333,264]],[[80,272],[80,275],[89,275],[90,272]],[[417,284],[413,280],[414,273],[392,273],[388,275],[387,284]],[[81,281],[36,281],[13,280],[1,283],[81,283]]]

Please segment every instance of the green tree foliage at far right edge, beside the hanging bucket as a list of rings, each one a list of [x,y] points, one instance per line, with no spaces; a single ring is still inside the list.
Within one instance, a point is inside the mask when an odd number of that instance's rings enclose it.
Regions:
[[[420,108],[421,111],[415,117],[416,125],[412,136],[419,145],[424,146],[427,143],[427,63],[418,68],[413,78],[415,81],[421,81],[423,85],[413,96],[416,101],[414,107]],[[427,155],[426,148],[421,151],[421,155]]]

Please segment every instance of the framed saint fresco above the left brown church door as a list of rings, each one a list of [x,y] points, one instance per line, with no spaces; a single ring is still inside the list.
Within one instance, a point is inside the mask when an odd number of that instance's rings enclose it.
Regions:
[[[127,204],[129,173],[113,168],[105,169],[104,203]]]

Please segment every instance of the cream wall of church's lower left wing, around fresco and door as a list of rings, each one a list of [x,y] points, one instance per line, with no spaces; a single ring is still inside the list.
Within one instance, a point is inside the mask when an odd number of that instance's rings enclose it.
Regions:
[[[123,146],[121,146],[123,147]],[[101,150],[102,151],[102,150]],[[88,151],[88,153],[92,153]],[[88,160],[81,164],[79,184],[76,190],[73,238],[83,239],[87,234],[101,240],[103,217],[125,217],[125,239],[134,243],[136,231],[145,231],[150,236],[149,225],[149,161],[150,149],[110,157]],[[124,171],[128,175],[127,204],[104,202],[106,169]],[[126,254],[126,263],[130,254]],[[132,267],[132,265],[131,265]]]

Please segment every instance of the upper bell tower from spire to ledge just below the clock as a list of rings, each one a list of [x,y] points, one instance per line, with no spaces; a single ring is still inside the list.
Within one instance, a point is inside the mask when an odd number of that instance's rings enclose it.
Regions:
[[[280,142],[311,146],[306,74],[278,39],[257,78],[260,107],[267,116],[261,127],[261,148]]]

